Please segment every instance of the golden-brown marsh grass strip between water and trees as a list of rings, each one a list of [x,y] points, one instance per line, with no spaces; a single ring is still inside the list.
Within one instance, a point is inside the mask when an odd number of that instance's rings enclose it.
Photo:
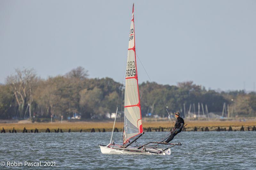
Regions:
[[[209,128],[209,131],[216,131],[218,127],[220,127],[221,130],[228,130],[229,126],[232,127],[232,130],[240,131],[240,128],[243,126],[244,131],[248,131],[248,127],[252,130],[253,126],[256,126],[256,120],[250,120],[250,121],[186,121],[185,124],[188,124],[186,126],[186,131],[194,131],[195,127],[197,131],[202,131],[202,128],[205,129],[205,127]],[[172,124],[173,125],[173,124]],[[103,129],[105,131],[112,131],[113,128],[113,121],[108,122],[53,122],[53,123],[0,123],[0,130],[4,128],[4,130],[9,132],[9,130],[12,131],[14,129],[17,132],[22,132],[24,127],[28,131],[34,131],[36,128],[39,132],[45,132],[47,128],[50,129],[51,132],[54,132],[54,130],[62,129],[63,132],[79,132],[82,130],[82,132],[90,132],[92,128],[94,128],[95,132],[102,132]],[[118,131],[122,130],[123,128],[123,122],[116,122],[115,127]],[[147,131],[148,128],[152,131],[158,131],[160,127],[163,128],[164,131],[170,131],[170,121],[154,121],[154,122],[148,122],[143,121],[143,128],[144,131]]]

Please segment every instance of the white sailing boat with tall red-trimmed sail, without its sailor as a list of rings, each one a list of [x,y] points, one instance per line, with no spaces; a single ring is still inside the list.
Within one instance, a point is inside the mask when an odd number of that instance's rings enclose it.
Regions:
[[[118,110],[118,108],[117,108]],[[116,110],[116,114],[117,114]],[[168,113],[169,114],[169,113]],[[115,118],[116,122],[116,118]],[[115,126],[114,122],[114,126]],[[114,130],[113,126],[113,130]],[[133,142],[144,134],[140,109],[140,93],[138,85],[138,72],[135,53],[135,31],[134,31],[134,4],[132,6],[132,20],[129,34],[129,46],[125,76],[124,94],[124,131],[123,145],[117,145],[112,141],[113,131],[108,145],[99,145],[100,151],[106,154],[147,154],[147,155],[170,155],[171,147],[178,144],[161,142],[148,142],[145,145],[132,147]],[[132,140],[133,139],[133,140]],[[132,141],[131,141],[132,140]],[[158,148],[158,145],[167,145],[165,148]],[[150,146],[153,145],[153,146]]]

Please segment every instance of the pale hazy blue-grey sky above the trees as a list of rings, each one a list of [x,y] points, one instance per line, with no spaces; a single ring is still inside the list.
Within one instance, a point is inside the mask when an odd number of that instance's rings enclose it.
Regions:
[[[0,82],[17,67],[47,78],[78,66],[121,82],[133,2],[136,52],[152,81],[253,89],[255,0],[0,0]],[[137,63],[139,82],[149,80]]]

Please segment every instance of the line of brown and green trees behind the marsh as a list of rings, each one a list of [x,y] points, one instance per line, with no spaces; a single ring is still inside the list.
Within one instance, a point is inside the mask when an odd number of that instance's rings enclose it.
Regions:
[[[169,112],[182,112],[184,104],[188,108],[191,103],[207,104],[210,112],[221,112],[223,103],[227,103],[235,108],[235,116],[256,116],[254,92],[219,93],[192,81],[177,86],[147,81],[139,88],[142,116],[149,112],[166,116],[165,107]],[[83,67],[47,79],[41,79],[34,69],[15,69],[15,74],[6,77],[0,85],[0,119],[51,115],[67,118],[73,113],[79,113],[83,119],[104,119],[106,113],[115,112],[116,106],[120,108],[123,102],[124,85],[108,77],[88,78],[88,71]]]

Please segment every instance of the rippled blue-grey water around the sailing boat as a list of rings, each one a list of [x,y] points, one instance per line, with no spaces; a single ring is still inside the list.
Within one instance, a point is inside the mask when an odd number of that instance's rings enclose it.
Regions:
[[[107,144],[110,136],[110,132],[2,133],[0,162],[55,161],[60,169],[256,169],[255,131],[181,132],[172,143],[182,146],[174,146],[167,156],[102,154],[97,144]],[[146,132],[139,141],[159,141],[163,136],[164,132]],[[119,133],[114,138],[119,143]]]

